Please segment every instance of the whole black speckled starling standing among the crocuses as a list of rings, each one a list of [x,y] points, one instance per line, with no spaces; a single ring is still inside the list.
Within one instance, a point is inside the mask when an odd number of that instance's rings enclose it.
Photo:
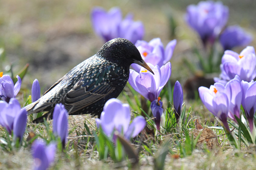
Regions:
[[[40,99],[27,105],[26,111],[28,114],[48,111],[34,120],[42,122],[49,114],[52,118],[55,105],[62,103],[69,115],[100,117],[105,102],[116,98],[125,87],[132,63],[153,73],[132,42],[123,38],[110,40],[95,55],[59,79]]]

